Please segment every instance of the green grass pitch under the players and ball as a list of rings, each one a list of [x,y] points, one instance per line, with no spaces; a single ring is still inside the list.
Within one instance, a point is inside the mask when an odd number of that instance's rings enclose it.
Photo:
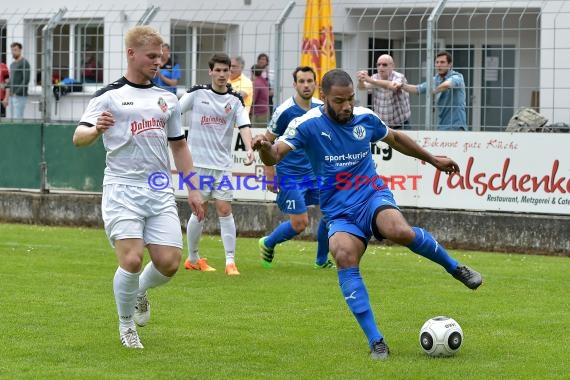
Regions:
[[[371,245],[361,272],[391,356],[368,357],[336,270],[313,269],[316,243],[278,247],[273,268],[240,238],[241,276],[181,269],[149,291],[144,350],[121,347],[117,267],[104,231],[0,224],[1,379],[567,379],[570,259],[453,251],[479,270],[473,292],[406,249]],[[148,255],[145,255],[148,260]],[[419,329],[448,315],[464,331],[451,358],[422,353]]]

